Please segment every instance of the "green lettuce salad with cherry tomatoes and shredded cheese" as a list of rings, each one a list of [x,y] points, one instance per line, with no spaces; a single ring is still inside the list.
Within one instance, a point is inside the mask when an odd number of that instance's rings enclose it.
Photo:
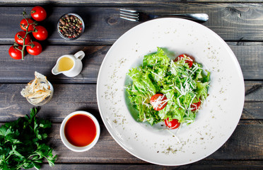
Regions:
[[[172,128],[172,120],[179,125],[192,123],[208,96],[210,72],[204,72],[201,64],[187,55],[171,60],[160,47],[145,55],[143,64],[127,75],[132,83],[126,89],[131,105],[139,112],[138,120],[151,125],[165,121]]]

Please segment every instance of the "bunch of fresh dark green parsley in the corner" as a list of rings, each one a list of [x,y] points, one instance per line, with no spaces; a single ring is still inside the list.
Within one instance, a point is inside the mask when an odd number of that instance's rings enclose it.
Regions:
[[[54,166],[57,155],[46,145],[51,122],[35,117],[37,109],[30,115],[18,118],[0,128],[0,169],[40,169],[43,158]]]

